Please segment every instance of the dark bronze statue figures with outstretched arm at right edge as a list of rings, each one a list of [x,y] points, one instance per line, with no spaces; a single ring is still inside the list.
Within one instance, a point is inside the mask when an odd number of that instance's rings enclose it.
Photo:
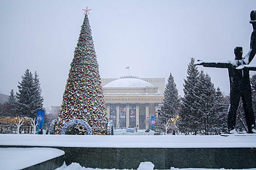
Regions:
[[[242,58],[242,47],[234,49],[235,60],[202,61],[197,60],[195,65],[213,68],[228,68],[230,81],[230,108],[228,111],[228,132],[231,133],[236,127],[236,111],[240,98],[242,97],[248,133],[256,133],[254,110],[252,106],[252,92],[249,70],[256,70],[250,67],[250,62],[256,54],[256,11],[251,12],[253,32],[249,52]],[[240,67],[239,67],[240,66]]]

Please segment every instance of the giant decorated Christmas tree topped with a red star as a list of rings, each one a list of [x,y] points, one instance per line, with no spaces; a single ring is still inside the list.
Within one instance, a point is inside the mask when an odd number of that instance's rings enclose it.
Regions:
[[[74,51],[55,134],[111,135],[88,15]]]

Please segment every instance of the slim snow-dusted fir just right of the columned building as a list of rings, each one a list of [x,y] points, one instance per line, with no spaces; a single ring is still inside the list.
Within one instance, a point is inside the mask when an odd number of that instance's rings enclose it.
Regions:
[[[177,85],[174,82],[172,73],[170,73],[167,84],[165,86],[164,99],[162,103],[163,105],[161,107],[161,111],[163,113],[161,113],[161,117],[159,119],[161,127],[166,131],[166,127],[163,126],[166,126],[167,124],[173,124],[168,123],[168,121],[170,121],[172,118],[176,118],[180,108],[180,99],[178,97]]]

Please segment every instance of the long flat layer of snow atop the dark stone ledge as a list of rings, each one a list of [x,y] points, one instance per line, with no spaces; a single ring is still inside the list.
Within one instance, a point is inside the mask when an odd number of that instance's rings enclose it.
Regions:
[[[71,136],[0,134],[0,145],[91,148],[256,148],[256,135]]]

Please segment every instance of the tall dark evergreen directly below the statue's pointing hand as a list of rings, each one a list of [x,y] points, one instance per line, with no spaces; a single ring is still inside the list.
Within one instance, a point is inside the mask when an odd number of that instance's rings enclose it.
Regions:
[[[184,97],[182,98],[179,128],[181,132],[189,134],[194,132],[197,134],[197,113],[199,109],[198,96],[198,75],[199,71],[194,65],[195,58],[191,58],[191,62],[187,69],[187,79],[184,79]]]

